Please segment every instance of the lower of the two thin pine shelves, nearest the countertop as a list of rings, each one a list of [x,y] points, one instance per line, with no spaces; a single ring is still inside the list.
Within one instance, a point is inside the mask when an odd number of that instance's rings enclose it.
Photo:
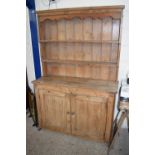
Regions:
[[[47,63],[62,63],[62,64],[107,64],[107,65],[117,65],[117,62],[101,62],[101,61],[78,61],[78,60],[49,60],[42,59],[42,62]]]

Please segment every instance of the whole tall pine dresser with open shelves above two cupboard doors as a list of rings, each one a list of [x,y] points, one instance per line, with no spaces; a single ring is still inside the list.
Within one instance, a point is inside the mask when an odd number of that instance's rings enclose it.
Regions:
[[[111,139],[124,6],[38,11],[39,127]]]

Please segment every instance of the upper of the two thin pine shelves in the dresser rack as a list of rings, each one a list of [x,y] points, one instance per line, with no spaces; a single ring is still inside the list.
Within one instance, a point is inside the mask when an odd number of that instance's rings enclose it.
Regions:
[[[117,40],[40,40],[40,43],[106,43],[106,44],[120,44]]]

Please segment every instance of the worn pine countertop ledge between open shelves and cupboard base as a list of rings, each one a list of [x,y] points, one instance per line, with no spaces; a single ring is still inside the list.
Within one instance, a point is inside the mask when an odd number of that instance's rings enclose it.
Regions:
[[[63,76],[41,77],[32,83],[48,85],[60,84],[70,87],[90,88],[110,93],[116,93],[118,88],[118,82]]]

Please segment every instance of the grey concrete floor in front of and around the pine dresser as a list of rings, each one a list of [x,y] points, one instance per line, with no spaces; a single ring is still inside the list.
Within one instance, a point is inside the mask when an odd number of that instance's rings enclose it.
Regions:
[[[107,155],[107,144],[88,141],[45,129],[33,127],[32,118],[26,117],[27,155]],[[109,155],[128,155],[128,132],[122,129]]]

